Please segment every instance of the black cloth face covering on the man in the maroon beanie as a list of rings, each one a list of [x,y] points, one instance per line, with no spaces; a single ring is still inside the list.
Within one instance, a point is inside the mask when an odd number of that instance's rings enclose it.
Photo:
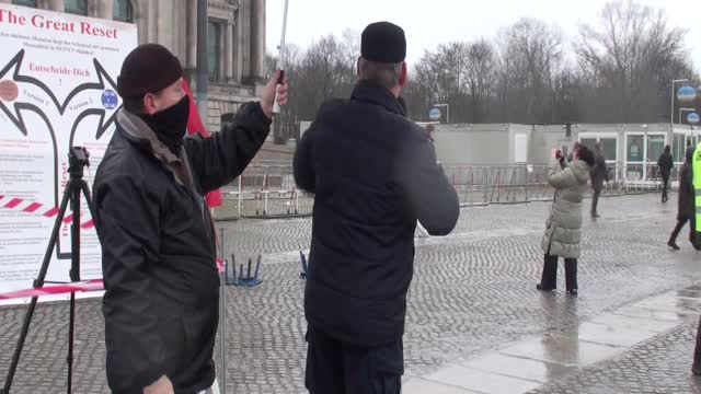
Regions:
[[[156,132],[158,139],[175,155],[180,154],[183,138],[187,131],[189,97],[184,96],[177,104],[153,115],[143,114],[141,119]]]

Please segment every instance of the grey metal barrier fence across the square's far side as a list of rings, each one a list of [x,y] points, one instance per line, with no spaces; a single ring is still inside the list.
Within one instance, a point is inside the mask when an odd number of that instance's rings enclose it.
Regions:
[[[521,204],[550,200],[549,165],[444,164],[461,206]],[[624,195],[658,190],[662,177],[656,166],[609,164],[605,195]],[[678,169],[670,186],[677,186]],[[254,164],[222,189],[223,205],[217,218],[285,218],[311,215],[313,196],[298,189],[289,162]]]

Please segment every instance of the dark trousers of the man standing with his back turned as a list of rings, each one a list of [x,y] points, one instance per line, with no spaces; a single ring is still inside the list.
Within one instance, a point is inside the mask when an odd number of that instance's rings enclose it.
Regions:
[[[340,341],[319,329],[307,331],[310,394],[400,394],[404,373],[402,338],[378,347]]]

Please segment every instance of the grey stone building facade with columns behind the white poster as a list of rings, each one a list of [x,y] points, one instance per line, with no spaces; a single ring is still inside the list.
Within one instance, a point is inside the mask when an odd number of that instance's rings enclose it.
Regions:
[[[193,92],[197,60],[196,0],[0,0],[23,7],[112,19],[138,26],[139,43],[158,43],[175,54]],[[265,0],[208,0],[208,114],[217,131],[221,117],[256,96],[265,76]]]

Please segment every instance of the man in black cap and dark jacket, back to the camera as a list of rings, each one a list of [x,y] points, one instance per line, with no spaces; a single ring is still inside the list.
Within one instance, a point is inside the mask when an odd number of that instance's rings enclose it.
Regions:
[[[416,221],[445,235],[458,220],[456,192],[399,97],[405,55],[399,26],[368,25],[350,99],[324,103],[295,153],[295,179],[315,195],[304,292],[312,394],[400,392]]]

